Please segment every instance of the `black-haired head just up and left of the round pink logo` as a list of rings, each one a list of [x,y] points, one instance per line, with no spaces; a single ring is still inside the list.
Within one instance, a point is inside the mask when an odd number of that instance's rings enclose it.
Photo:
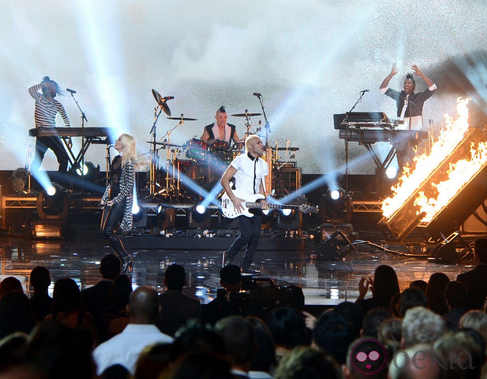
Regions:
[[[350,323],[334,312],[324,312],[313,329],[314,345],[340,365],[345,363],[348,345],[354,338]]]

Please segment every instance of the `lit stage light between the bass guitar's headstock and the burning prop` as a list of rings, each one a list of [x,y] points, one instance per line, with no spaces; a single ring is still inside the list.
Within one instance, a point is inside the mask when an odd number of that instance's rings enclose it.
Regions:
[[[330,187],[320,199],[322,223],[349,223],[352,218],[352,200],[341,187]]]

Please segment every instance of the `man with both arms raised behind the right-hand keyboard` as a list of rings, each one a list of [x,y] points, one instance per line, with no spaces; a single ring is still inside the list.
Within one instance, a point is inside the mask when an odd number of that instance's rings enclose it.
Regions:
[[[403,90],[401,92],[395,91],[388,87],[389,81],[398,73],[396,64],[393,65],[391,73],[386,76],[382,82],[380,89],[385,95],[396,100],[398,107],[398,117],[404,120],[405,129],[421,130],[423,129],[423,104],[436,91],[436,85],[424,75],[416,65],[411,67],[415,75],[420,76],[428,88],[422,92],[414,93],[416,82],[412,74],[407,74],[404,80]],[[419,143],[418,140],[405,140],[396,147],[399,168],[402,169],[405,164],[414,156],[413,150]],[[408,148],[409,146],[409,148]]]

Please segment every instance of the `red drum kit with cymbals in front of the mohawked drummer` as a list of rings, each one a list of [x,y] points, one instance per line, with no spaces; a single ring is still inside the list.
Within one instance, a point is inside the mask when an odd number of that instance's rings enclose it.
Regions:
[[[166,101],[169,97],[162,97],[158,91],[152,90],[154,98],[158,102],[158,107],[155,108],[155,122],[151,134],[153,136],[151,141],[151,172],[148,186],[148,197],[162,197],[167,201],[179,202],[181,200],[199,200],[204,197],[204,191],[210,191],[220,180],[230,162],[241,153],[244,139],[235,142],[233,146],[226,141],[210,140],[203,141],[195,137],[186,141],[183,145],[176,145],[170,142],[170,135],[172,131],[185,121],[197,121],[194,118],[187,118],[181,114],[180,117],[167,117],[168,120],[178,120],[178,124],[169,130],[161,139],[162,142],[156,141],[156,123],[163,111],[170,116],[170,110]],[[161,108],[159,114],[158,108]],[[250,117],[260,116],[260,113],[248,113],[245,109],[244,113],[231,115],[233,117],[244,117],[247,132],[245,137],[250,135],[249,123]],[[259,122],[260,124],[260,122]],[[166,164],[159,167],[160,150],[166,150]],[[184,159],[180,158],[180,154],[184,152]],[[189,181],[188,181],[189,179]],[[164,185],[162,185],[162,183]],[[195,186],[188,185],[195,183],[197,188],[202,190],[195,190]]]

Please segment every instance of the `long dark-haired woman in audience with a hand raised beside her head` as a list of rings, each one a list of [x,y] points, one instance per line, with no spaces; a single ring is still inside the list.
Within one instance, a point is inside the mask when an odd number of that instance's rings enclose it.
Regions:
[[[364,299],[367,291],[371,290],[372,298]],[[375,269],[374,280],[362,277],[358,285],[359,297],[355,301],[362,308],[364,314],[376,306],[391,306],[392,297],[400,292],[396,271],[391,266],[380,265]]]

